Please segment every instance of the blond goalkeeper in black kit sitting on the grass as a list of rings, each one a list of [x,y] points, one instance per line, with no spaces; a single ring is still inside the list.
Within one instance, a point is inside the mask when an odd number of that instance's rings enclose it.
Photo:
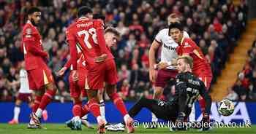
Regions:
[[[176,76],[176,93],[169,101],[157,101],[153,99],[140,98],[129,110],[129,116],[135,117],[141,109],[146,108],[153,112],[157,118],[171,122],[187,122],[187,117],[192,109],[193,103],[201,95],[206,100],[206,114],[203,122],[209,122],[208,114],[211,111],[211,97],[206,92],[206,87],[200,79],[192,74],[193,59],[189,56],[178,57],[178,75]],[[202,130],[208,130],[203,127]],[[186,126],[171,127],[170,130],[187,130]]]

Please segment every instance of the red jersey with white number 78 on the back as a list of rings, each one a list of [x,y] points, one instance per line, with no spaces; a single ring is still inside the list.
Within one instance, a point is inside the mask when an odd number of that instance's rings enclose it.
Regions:
[[[104,28],[101,20],[80,17],[67,28],[66,34],[69,42],[72,69],[75,70],[77,68],[76,43],[80,44],[88,66],[93,65],[94,58],[102,54],[107,54],[108,59],[113,59],[113,55],[105,44]]]

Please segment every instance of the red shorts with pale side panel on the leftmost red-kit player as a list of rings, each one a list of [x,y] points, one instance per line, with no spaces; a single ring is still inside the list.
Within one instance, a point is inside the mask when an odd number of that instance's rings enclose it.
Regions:
[[[28,71],[29,88],[31,90],[39,90],[45,84],[53,83],[53,75],[48,66],[35,68]]]

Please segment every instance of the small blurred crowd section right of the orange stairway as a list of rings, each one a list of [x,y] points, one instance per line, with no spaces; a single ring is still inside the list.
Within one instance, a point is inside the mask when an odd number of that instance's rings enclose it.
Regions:
[[[236,83],[227,89],[226,98],[230,100],[256,101],[256,36],[247,55],[244,69],[238,73]]]

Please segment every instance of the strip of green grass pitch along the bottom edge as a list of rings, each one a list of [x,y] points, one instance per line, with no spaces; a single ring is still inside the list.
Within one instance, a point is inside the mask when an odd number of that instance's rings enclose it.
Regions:
[[[20,125],[7,125],[7,124],[0,124],[0,134],[93,134],[96,133],[96,129],[88,129],[83,127],[83,130],[76,131],[70,130],[64,124],[45,124],[44,127],[46,129],[40,130],[29,130],[26,128],[27,124],[20,124]],[[96,126],[94,126],[96,127]],[[107,133],[126,133],[125,132],[107,132]],[[188,130],[188,131],[181,131],[181,132],[169,132],[168,128],[157,128],[157,129],[144,129],[142,126],[135,130],[135,133],[146,133],[146,134],[159,134],[159,133],[191,133],[191,134],[203,134],[203,133],[214,133],[214,134],[252,134],[256,133],[256,125],[252,125],[249,128],[214,128],[208,132],[198,132],[197,130]]]

